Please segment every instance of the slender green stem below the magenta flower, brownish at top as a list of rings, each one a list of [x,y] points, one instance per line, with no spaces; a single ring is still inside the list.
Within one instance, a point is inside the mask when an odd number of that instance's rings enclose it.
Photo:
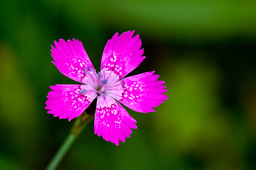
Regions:
[[[66,138],[63,144],[60,146],[60,149],[57,151],[55,156],[52,158],[52,161],[46,167],[45,170],[54,170],[56,169],[61,160],[64,158],[68,150],[70,149],[71,145],[76,140],[76,137],[83,131],[86,125],[92,120],[93,114],[88,115],[87,113],[83,112],[80,116],[76,118],[76,121]]]

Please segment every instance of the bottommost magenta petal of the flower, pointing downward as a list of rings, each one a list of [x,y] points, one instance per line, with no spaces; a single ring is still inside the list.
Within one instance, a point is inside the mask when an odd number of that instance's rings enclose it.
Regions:
[[[103,100],[98,97],[94,119],[94,132],[103,139],[119,145],[119,140],[124,142],[125,137],[130,137],[132,129],[137,129],[135,120],[114,99],[107,96]]]

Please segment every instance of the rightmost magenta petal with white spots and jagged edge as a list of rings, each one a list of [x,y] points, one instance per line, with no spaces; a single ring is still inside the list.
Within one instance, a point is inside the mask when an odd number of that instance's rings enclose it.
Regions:
[[[163,85],[164,81],[156,81],[159,76],[153,75],[154,72],[146,72],[121,80],[124,91],[121,98],[115,99],[134,111],[154,112],[152,107],[159,106],[168,97],[163,94],[167,92]]]

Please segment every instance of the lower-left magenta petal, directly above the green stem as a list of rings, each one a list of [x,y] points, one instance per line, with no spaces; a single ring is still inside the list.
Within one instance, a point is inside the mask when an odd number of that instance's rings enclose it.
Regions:
[[[54,117],[60,116],[60,119],[68,118],[68,121],[83,113],[97,96],[88,85],[56,85],[50,88],[53,91],[48,93],[45,103],[45,109],[50,109],[47,113],[54,114]],[[81,94],[81,89],[87,92]]]

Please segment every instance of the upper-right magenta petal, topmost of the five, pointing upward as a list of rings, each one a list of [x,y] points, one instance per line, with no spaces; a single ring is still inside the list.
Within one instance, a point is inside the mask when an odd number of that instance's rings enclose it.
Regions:
[[[116,33],[108,40],[101,59],[101,70],[113,70],[120,79],[140,65],[145,57],[142,57],[140,37],[135,35],[132,38],[133,33],[128,31],[119,37]]]

